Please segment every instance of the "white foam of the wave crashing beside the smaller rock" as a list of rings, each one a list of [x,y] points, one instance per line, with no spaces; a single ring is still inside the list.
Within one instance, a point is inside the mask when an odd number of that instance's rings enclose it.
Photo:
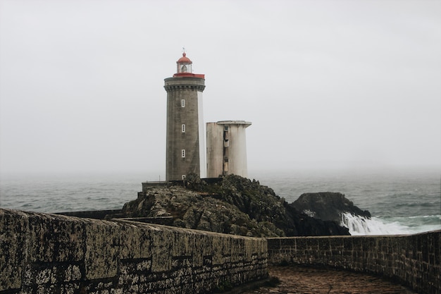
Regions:
[[[341,226],[349,228],[351,235],[399,235],[415,233],[409,227],[397,221],[387,222],[383,219],[354,216],[342,213]]]

